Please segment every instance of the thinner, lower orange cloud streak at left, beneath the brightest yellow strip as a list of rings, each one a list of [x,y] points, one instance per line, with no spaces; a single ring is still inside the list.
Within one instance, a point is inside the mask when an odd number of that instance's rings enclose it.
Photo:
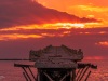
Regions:
[[[55,33],[50,33],[50,32],[40,32],[40,33],[5,33],[5,35],[0,35],[0,40],[1,41],[9,41],[9,40],[19,40],[19,39],[40,39],[40,38],[46,38],[46,37],[64,37],[68,36],[69,31],[63,31],[63,32],[55,32]]]

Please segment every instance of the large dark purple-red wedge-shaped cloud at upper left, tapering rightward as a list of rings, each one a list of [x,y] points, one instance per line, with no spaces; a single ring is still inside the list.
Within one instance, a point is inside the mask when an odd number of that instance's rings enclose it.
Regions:
[[[55,22],[97,22],[48,9],[32,0],[0,0],[0,27]]]

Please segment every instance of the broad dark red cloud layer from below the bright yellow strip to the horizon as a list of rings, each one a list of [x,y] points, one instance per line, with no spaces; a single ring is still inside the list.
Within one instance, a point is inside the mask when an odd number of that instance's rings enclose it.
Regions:
[[[65,31],[70,33],[64,37],[58,35]],[[82,32],[82,33],[80,33]],[[89,33],[86,33],[89,32]],[[108,41],[108,28],[89,28],[89,29],[35,29],[35,30],[12,30],[1,31],[0,35],[21,33],[21,35],[56,35],[54,37],[46,36],[45,38],[27,38],[9,41],[0,41],[1,57],[28,57],[29,50],[39,50],[49,44],[60,45],[65,44],[71,49],[82,49],[84,56],[102,56],[108,58],[108,46],[102,46],[96,43]],[[5,38],[6,39],[6,38]]]

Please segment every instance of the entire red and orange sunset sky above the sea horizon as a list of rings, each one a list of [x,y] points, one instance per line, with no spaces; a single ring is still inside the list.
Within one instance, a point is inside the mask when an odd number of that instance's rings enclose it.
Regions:
[[[108,59],[107,0],[0,0],[0,58],[28,58],[49,44]]]

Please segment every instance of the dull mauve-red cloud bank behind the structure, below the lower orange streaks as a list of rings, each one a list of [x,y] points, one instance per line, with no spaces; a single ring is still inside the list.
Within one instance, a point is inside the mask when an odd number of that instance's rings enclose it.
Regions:
[[[98,39],[97,39],[98,38]],[[103,41],[105,36],[99,37],[93,35],[75,35],[66,37],[53,37],[42,39],[23,39],[23,40],[11,40],[0,42],[0,57],[1,58],[22,58],[28,57],[31,49],[39,50],[43,49],[49,44],[60,45],[65,44],[71,49],[82,49],[84,56],[103,56],[108,58],[108,46],[98,46],[95,43]],[[108,39],[107,39],[108,40]]]

